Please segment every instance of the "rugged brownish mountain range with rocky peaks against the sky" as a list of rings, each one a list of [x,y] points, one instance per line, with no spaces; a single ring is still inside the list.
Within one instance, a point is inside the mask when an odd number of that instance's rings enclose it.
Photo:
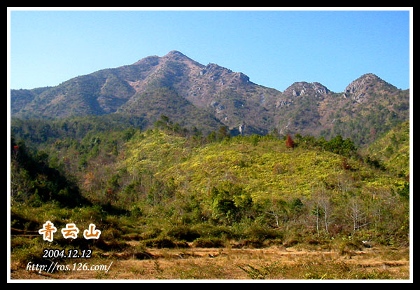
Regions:
[[[17,118],[127,113],[143,117],[150,127],[163,114],[204,132],[226,125],[236,134],[342,134],[358,144],[370,143],[409,114],[409,90],[374,74],[360,76],[343,92],[304,81],[280,92],[176,50],[55,87],[11,90],[10,96],[11,115]]]

